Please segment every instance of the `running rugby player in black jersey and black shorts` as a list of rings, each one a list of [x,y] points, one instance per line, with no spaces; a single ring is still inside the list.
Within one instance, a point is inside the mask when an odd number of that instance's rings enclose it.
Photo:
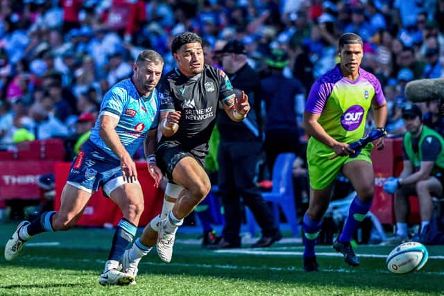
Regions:
[[[162,139],[156,150],[157,165],[169,182],[162,213],[126,253],[123,269],[130,272],[137,270],[139,260],[151,250],[157,232],[157,254],[162,261],[171,261],[178,226],[210,192],[203,166],[219,102],[232,121],[242,121],[250,110],[248,96],[235,97],[223,71],[204,65],[201,44],[200,37],[189,32],[176,36],[171,44],[178,66],[160,82]]]

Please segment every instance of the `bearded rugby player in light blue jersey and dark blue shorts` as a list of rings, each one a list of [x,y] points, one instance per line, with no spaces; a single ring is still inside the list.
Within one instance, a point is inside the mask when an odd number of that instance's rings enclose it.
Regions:
[[[148,171],[157,185],[162,173],[154,156],[160,108],[155,87],[163,66],[159,53],[142,51],[133,65],[133,77],[121,80],[105,94],[99,119],[71,165],[59,211],[46,212],[31,223],[20,223],[6,244],[6,260],[15,259],[26,241],[36,234],[74,227],[92,193],[102,187],[119,206],[123,218],[114,233],[99,284],[126,285],[134,281],[133,275],[119,271],[123,252],[133,241],[144,210],[133,155],[143,142]]]

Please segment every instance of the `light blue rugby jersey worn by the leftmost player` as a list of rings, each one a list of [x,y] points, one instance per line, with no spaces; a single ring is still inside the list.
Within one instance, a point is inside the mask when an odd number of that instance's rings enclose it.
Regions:
[[[160,99],[157,89],[149,96],[141,96],[130,78],[114,85],[103,97],[99,118],[103,114],[119,118],[116,126],[117,135],[128,153],[133,157],[143,143],[149,130],[157,128],[159,121]],[[118,159],[99,136],[97,119],[91,130],[89,140],[99,146],[108,155]]]

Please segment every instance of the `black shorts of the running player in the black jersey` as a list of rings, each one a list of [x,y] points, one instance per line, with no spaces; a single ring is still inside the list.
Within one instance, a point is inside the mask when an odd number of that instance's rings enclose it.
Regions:
[[[208,154],[208,144],[187,149],[179,141],[162,141],[157,146],[155,155],[157,158],[157,166],[164,175],[167,176],[169,182],[173,182],[173,170],[184,157],[193,157],[198,164],[205,167],[205,157]]]

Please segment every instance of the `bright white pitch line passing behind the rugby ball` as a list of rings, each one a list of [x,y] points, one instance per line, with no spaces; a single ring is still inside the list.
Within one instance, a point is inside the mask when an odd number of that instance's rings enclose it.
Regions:
[[[302,256],[304,252],[282,252],[282,251],[259,251],[259,250],[241,250],[241,249],[231,249],[231,250],[216,250],[216,253],[223,254],[250,254],[250,255],[272,255],[272,256]],[[338,252],[316,252],[316,256],[326,256],[326,257],[342,257],[343,255]],[[364,258],[386,258],[386,255],[377,254],[357,254],[359,257]],[[429,259],[443,260],[444,256],[429,256]]]

